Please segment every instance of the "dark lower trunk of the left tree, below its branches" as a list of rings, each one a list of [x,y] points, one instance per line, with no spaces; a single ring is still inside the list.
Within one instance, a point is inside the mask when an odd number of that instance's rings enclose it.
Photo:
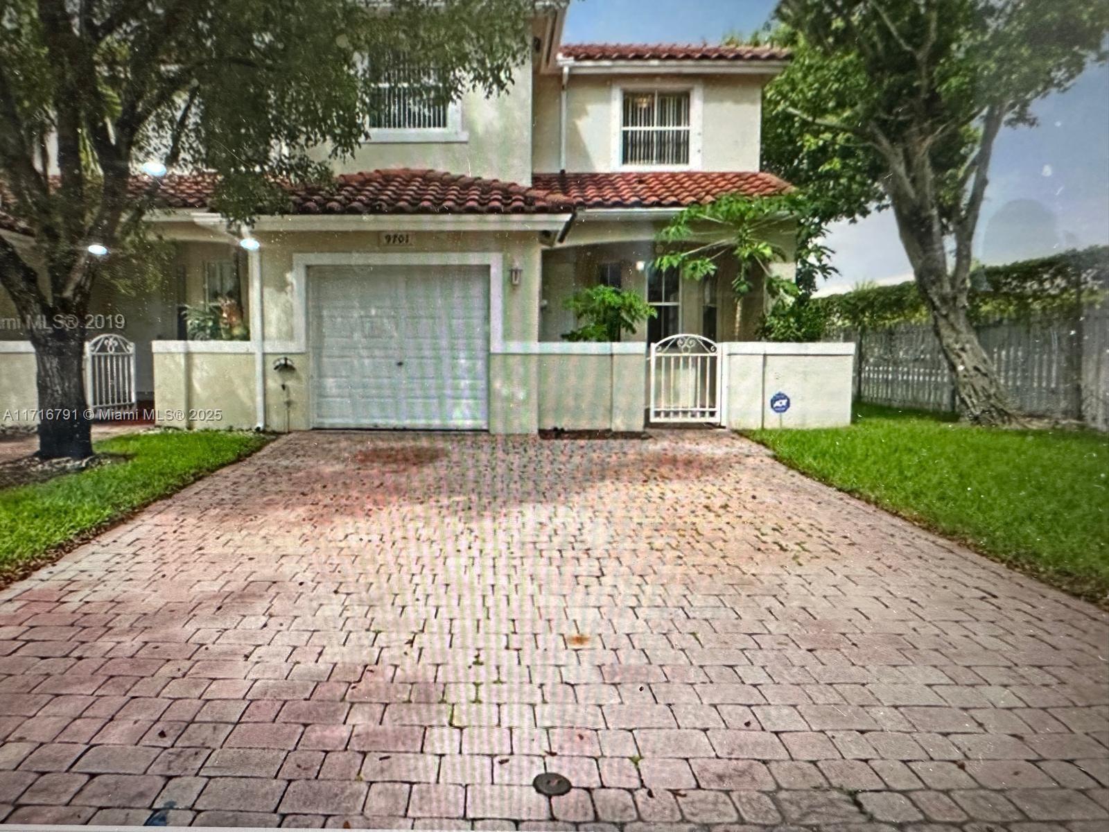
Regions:
[[[84,396],[84,333],[51,329],[31,337],[39,389],[42,459],[92,456],[92,423]]]

